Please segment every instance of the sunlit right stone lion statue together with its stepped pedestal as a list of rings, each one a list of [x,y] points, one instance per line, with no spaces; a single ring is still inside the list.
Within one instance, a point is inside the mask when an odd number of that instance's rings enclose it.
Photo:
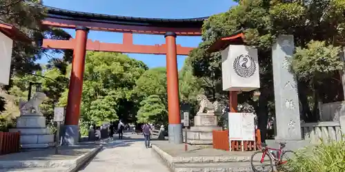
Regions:
[[[187,133],[187,142],[189,144],[212,144],[213,130],[221,130],[218,127],[218,118],[215,116],[221,108],[219,103],[215,101],[211,103],[205,95],[198,95],[199,111],[194,117],[194,127],[190,127]]]

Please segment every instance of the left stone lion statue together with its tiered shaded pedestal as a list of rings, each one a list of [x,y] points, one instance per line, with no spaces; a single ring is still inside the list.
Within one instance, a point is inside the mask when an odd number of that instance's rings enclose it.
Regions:
[[[17,128],[11,132],[20,132],[22,149],[47,148],[54,146],[54,135],[46,127],[46,117],[39,105],[46,99],[46,94],[36,92],[28,102],[19,102],[21,116],[17,118]]]

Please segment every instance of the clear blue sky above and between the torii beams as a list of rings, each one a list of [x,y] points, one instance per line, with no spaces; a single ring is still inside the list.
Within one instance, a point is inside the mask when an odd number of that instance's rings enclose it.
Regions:
[[[208,17],[219,12],[225,12],[230,6],[236,5],[231,0],[45,0],[44,5],[66,10],[114,14],[130,17],[154,18],[194,18]],[[66,30],[75,37],[75,30]],[[117,32],[90,31],[88,39],[107,43],[122,43],[122,34]],[[197,47],[200,36],[177,36],[177,44],[186,47]],[[133,43],[155,45],[165,43],[162,35],[133,34]],[[130,57],[143,61],[148,67],[166,66],[164,55],[128,54]],[[186,56],[177,56],[178,67],[184,65]],[[39,63],[46,63],[43,57]]]

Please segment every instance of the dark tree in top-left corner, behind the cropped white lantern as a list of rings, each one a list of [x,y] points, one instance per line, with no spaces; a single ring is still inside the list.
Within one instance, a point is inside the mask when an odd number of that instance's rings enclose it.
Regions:
[[[1,0],[0,1],[1,21],[19,28],[26,34],[32,43],[21,43],[14,41],[12,52],[11,74],[25,74],[40,69],[35,61],[42,56],[50,56],[48,50],[41,48],[42,39],[70,39],[70,35],[59,28],[49,28],[41,25],[45,17],[45,9],[41,1],[30,0]],[[61,53],[61,50],[50,52]]]

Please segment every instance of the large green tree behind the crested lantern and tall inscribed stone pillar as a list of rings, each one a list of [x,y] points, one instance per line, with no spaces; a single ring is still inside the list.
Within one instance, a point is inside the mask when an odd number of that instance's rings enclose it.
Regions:
[[[238,6],[233,6],[228,12],[216,14],[205,21],[202,28],[203,42],[190,52],[193,74],[199,78],[208,78],[208,80],[221,80],[221,56],[219,52],[209,54],[206,50],[222,36],[228,36],[243,29],[246,45],[252,45],[258,49],[261,85],[259,92],[261,94],[259,99],[255,100],[253,92],[242,93],[239,95],[239,103],[248,103],[255,107],[259,118],[259,129],[262,129],[262,136],[265,136],[268,114],[274,114],[271,47],[275,38],[279,34],[293,34],[295,45],[302,49],[311,50],[307,45],[312,40],[325,41],[326,46],[337,46],[340,42],[344,42],[344,9],[344,1],[339,0],[240,1]],[[331,63],[334,58],[328,57],[330,56],[323,57],[325,63],[336,65],[331,69],[339,69],[338,63]],[[309,65],[315,65],[315,63]],[[321,68],[315,67],[315,69],[318,73],[325,74]],[[326,76],[330,77],[331,74],[326,74]],[[309,83],[299,80],[298,87],[304,119],[308,119],[305,118],[307,114],[316,116],[317,113],[312,114],[308,104],[308,96],[313,95],[307,95],[307,92],[301,89],[308,89]],[[217,89],[216,92],[224,95]],[[210,95],[209,92],[206,94]]]

